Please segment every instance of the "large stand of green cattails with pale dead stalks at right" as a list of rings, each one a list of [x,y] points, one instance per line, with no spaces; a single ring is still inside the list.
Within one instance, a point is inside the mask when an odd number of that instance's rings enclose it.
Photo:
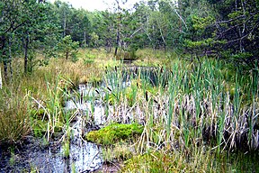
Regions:
[[[129,76],[130,81],[138,80],[138,87],[136,82],[129,84],[131,89],[121,87],[121,78],[127,76],[114,69],[106,80],[118,99],[112,103],[116,114],[112,112],[108,117],[144,125],[135,145],[140,154],[166,149],[184,156],[204,146],[208,147],[206,157],[210,152],[218,157],[225,151],[258,150],[258,69],[244,74],[232,67],[234,72],[226,73],[226,67],[228,64],[220,60],[190,63],[174,59],[168,66],[154,68],[155,81],[150,82],[147,74]],[[132,104],[129,96],[133,95],[138,99]],[[193,157],[194,162],[199,160],[197,155]]]

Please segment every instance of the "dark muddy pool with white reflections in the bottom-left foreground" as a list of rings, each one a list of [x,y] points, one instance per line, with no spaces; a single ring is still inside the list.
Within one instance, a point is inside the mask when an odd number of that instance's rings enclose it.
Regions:
[[[100,149],[94,143],[71,141],[68,159],[63,150],[60,141],[47,143],[32,137],[15,147],[1,146],[0,172],[91,172],[102,166]]]

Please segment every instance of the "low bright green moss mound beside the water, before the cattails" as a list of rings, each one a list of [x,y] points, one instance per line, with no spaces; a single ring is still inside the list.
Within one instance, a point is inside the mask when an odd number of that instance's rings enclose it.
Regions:
[[[87,141],[97,144],[112,145],[118,141],[125,141],[140,135],[144,127],[138,123],[121,124],[113,123],[99,131],[88,132],[85,136]]]

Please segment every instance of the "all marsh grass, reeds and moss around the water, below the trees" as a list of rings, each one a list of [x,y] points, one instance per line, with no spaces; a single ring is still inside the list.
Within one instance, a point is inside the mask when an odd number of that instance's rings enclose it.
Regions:
[[[115,154],[131,158],[122,172],[257,171],[251,163],[258,159],[252,152],[259,148],[258,68],[244,72],[230,66],[230,71],[219,59],[189,62],[159,54],[163,63],[154,60],[155,68],[123,70],[111,54],[105,59],[100,50],[79,52],[83,59],[76,63],[50,59],[31,76],[21,75],[17,68],[16,78],[0,91],[0,142],[21,141],[36,127],[48,141],[55,132],[66,133],[78,110],[65,112],[64,100],[79,83],[103,79],[98,99],[107,109],[105,120],[115,124],[89,132],[87,138],[115,145],[138,134],[131,146],[134,152]],[[136,54],[142,57],[141,66],[152,64],[150,51]],[[86,97],[93,115],[97,96]],[[124,129],[128,123],[135,125],[130,131]],[[103,153],[118,150],[120,145]]]

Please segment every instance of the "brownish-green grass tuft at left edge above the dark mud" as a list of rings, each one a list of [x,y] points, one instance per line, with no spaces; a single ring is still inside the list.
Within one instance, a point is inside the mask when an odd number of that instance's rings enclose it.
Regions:
[[[10,88],[0,90],[0,143],[20,141],[31,132],[29,98],[30,93],[21,96]]]

